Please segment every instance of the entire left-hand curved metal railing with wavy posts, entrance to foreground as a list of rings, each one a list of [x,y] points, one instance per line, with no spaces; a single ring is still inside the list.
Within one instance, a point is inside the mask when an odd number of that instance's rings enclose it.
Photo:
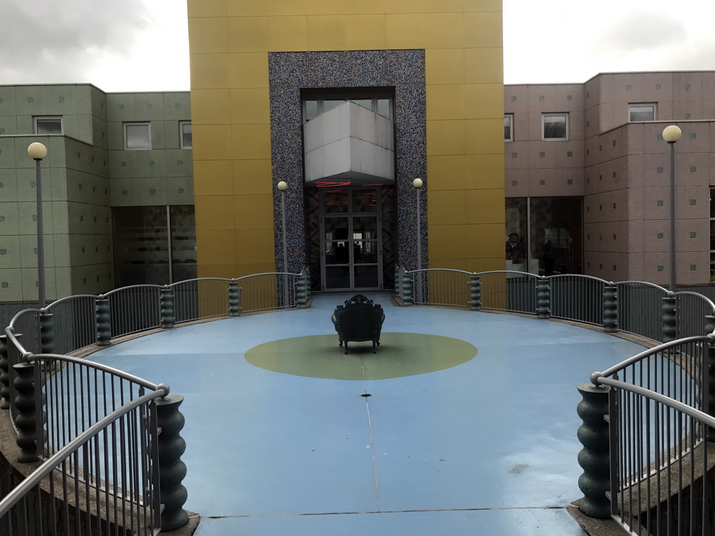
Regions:
[[[19,462],[46,462],[15,490],[13,479],[0,479],[0,536],[149,535],[162,523],[182,526],[185,498],[174,481],[181,462],[164,459],[182,452],[178,431],[167,432],[179,420],[162,410],[162,427],[157,412],[157,399],[178,412],[180,397],[169,401],[164,384],[66,354],[149,329],[305,307],[308,277],[304,270],[136,285],[17,313],[0,339],[0,396],[18,435]],[[159,443],[170,481],[161,504]]]

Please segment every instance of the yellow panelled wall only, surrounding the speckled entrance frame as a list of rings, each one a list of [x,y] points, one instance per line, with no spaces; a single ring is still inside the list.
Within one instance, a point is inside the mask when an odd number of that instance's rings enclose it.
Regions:
[[[501,0],[189,0],[189,16],[199,274],[275,269],[267,54],[307,50],[425,49],[430,265],[504,267]]]

